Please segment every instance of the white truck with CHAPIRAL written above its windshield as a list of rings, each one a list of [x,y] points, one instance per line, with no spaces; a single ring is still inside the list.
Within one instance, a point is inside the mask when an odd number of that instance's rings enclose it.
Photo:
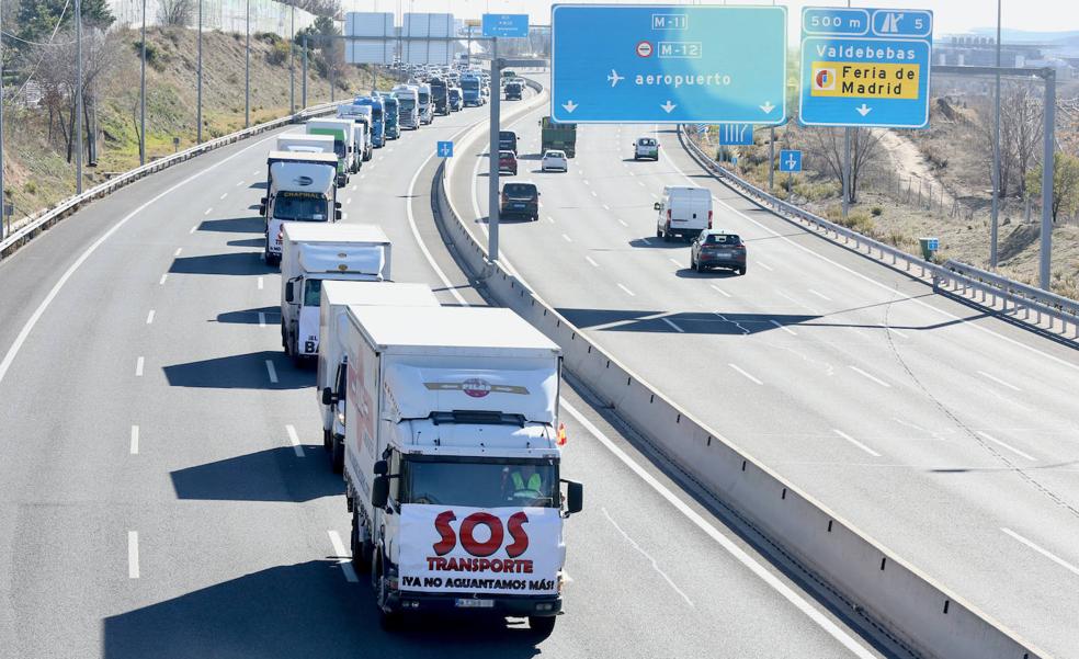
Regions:
[[[266,218],[266,264],[281,263],[286,223],[328,223],[341,219],[337,201],[338,159],[334,154],[270,151],[266,157],[266,196],[259,214]]]

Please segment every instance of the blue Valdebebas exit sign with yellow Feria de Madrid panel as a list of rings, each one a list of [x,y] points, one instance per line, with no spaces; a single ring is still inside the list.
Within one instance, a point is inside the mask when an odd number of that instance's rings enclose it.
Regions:
[[[799,121],[924,128],[932,49],[931,11],[803,9]]]

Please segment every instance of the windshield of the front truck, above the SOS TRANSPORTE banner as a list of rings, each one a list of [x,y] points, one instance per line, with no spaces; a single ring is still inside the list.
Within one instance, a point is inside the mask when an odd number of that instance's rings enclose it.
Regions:
[[[401,464],[401,503],[474,508],[558,507],[552,461],[446,461],[409,456]]]

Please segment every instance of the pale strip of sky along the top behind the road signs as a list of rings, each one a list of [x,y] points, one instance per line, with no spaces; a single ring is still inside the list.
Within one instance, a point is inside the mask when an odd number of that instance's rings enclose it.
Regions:
[[[1079,30],[1079,2],[1076,0],[1001,0],[1003,26],[1027,31]],[[580,2],[582,4],[701,4],[693,1],[673,2]],[[705,2],[707,4],[708,2]],[[711,2],[722,4],[722,2]],[[731,4],[772,4],[771,0],[740,0]],[[799,16],[804,5],[844,5],[844,1],[777,0],[788,10],[792,36],[799,32]],[[544,0],[341,0],[345,11],[417,11],[450,12],[457,18],[478,18],[485,12],[527,13],[533,24],[550,23],[552,2]],[[966,32],[974,27],[992,27],[997,24],[995,0],[879,0],[864,2],[852,0],[852,7],[883,9],[929,9],[936,22],[934,34]]]

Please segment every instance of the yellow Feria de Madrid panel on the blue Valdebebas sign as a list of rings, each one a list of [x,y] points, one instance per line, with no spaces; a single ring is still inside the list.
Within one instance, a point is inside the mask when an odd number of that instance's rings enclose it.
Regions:
[[[809,95],[844,99],[917,99],[917,64],[815,61]]]

